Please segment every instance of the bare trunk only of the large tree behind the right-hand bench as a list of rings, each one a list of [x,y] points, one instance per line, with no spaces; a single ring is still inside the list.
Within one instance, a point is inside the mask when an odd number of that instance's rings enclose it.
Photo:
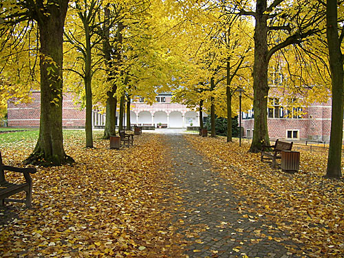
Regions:
[[[255,63],[253,65],[253,111],[255,114],[255,131],[253,131],[250,151],[257,153],[262,144],[270,144],[268,136],[268,14],[266,0],[257,0],[255,23]]]

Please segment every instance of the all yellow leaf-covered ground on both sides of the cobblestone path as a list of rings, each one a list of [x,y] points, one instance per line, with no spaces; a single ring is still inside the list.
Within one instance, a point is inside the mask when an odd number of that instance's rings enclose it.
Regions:
[[[32,209],[8,204],[0,210],[0,256],[186,257],[183,223],[171,215],[182,209],[182,195],[173,185],[175,160],[164,136],[144,133],[133,147],[117,151],[100,132],[96,149],[85,149],[81,133],[65,132],[65,150],[76,164],[39,167],[32,175]],[[6,137],[0,142],[4,163],[21,166],[36,136]],[[260,162],[245,142],[239,147],[224,138],[185,137],[242,197],[242,217],[275,223],[305,247],[290,253],[344,256],[344,182],[323,178],[325,153],[301,150],[299,173],[288,174]]]

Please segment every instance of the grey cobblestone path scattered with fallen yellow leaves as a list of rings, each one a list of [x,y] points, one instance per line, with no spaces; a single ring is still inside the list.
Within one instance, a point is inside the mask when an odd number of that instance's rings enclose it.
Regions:
[[[166,134],[177,186],[182,195],[175,212],[189,257],[297,257],[290,235],[264,217],[241,211],[235,189],[182,135]],[[235,184],[234,184],[235,185]]]

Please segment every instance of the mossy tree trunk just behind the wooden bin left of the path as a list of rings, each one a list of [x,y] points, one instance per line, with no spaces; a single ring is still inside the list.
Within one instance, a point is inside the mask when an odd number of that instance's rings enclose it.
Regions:
[[[109,17],[110,10],[105,8],[105,40],[103,45],[103,52],[105,56],[105,64],[107,69],[109,69],[107,74],[107,80],[112,78],[112,62],[111,62],[111,45],[109,42]],[[112,89],[107,92],[107,105],[106,105],[106,118],[105,118],[105,129],[103,139],[109,139],[110,136],[116,136],[116,109],[117,109],[117,98],[114,96],[116,94],[116,84],[112,85]]]

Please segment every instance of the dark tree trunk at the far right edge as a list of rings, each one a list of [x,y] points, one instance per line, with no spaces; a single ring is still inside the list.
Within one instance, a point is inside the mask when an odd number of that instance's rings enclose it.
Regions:
[[[337,1],[327,0],[327,44],[332,79],[332,119],[330,149],[327,159],[327,178],[341,178],[341,149],[343,139],[343,54],[338,38]]]

